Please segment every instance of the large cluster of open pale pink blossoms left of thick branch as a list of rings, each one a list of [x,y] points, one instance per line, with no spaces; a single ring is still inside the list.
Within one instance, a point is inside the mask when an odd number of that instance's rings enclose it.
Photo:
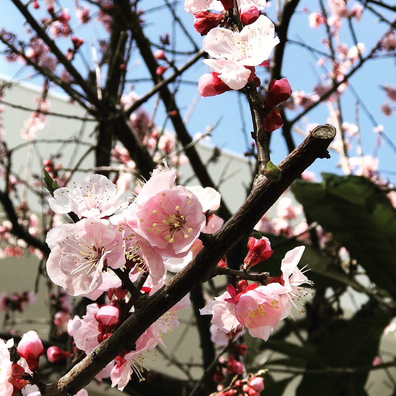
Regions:
[[[206,225],[200,201],[187,188],[173,187],[175,178],[175,171],[155,169],[129,206],[119,200],[124,190],[101,175],[55,190],[51,209],[73,211],[80,221],[47,234],[51,280],[70,295],[89,295],[108,268],[127,266],[147,270],[157,284],[164,261],[187,256]]]

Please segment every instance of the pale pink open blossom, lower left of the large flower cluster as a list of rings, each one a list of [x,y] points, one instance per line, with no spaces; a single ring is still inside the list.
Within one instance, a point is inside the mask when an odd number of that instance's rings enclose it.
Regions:
[[[70,295],[84,295],[102,283],[106,266],[125,264],[122,235],[105,219],[82,219],[64,224],[47,234],[51,249],[47,261],[49,278]]]

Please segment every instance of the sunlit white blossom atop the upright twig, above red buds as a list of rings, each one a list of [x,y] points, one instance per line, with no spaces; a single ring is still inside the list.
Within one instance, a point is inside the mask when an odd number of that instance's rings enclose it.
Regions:
[[[204,49],[216,59],[205,59],[212,71],[232,89],[241,89],[247,83],[251,70],[266,61],[272,48],[279,43],[274,37],[274,24],[265,15],[241,32],[225,28],[214,28],[204,38]]]

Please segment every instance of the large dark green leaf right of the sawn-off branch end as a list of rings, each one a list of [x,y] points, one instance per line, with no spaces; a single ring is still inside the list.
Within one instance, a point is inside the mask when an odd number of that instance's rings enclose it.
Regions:
[[[396,209],[365,177],[325,173],[323,179],[321,184],[296,181],[295,197],[370,279],[396,298]]]

